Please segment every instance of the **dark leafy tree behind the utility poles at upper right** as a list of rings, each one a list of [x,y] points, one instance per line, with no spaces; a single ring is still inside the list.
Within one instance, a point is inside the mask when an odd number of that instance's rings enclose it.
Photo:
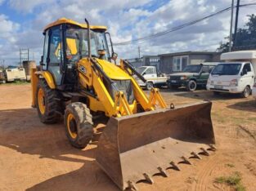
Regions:
[[[237,29],[236,42],[234,42],[234,34],[232,34],[232,51],[256,49],[256,16],[252,14],[248,17],[249,21],[245,24],[245,28]],[[227,52],[228,47],[229,42],[220,42],[220,47],[217,48],[217,51]]]

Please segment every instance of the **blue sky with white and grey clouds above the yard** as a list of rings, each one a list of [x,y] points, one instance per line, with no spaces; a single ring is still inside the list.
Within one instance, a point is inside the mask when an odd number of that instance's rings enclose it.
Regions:
[[[236,2],[236,0],[235,0]],[[256,0],[240,0],[240,4]],[[231,6],[231,0],[0,0],[0,64],[16,65],[20,48],[29,48],[37,61],[43,54],[43,28],[66,17],[92,25],[106,25],[114,43],[127,42],[172,29]],[[239,27],[256,13],[241,7]],[[215,51],[229,35],[231,11],[148,41],[115,46],[119,58],[178,51]]]

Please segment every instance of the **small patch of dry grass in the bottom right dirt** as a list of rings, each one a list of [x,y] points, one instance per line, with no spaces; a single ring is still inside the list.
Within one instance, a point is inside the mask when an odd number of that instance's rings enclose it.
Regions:
[[[236,171],[229,176],[220,176],[214,180],[218,184],[227,184],[232,186],[236,191],[245,191],[245,186],[241,184],[241,175],[240,172]]]

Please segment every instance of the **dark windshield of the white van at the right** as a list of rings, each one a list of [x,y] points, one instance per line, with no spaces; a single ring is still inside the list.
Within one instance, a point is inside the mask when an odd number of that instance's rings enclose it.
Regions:
[[[241,64],[218,64],[212,72],[212,75],[237,75]]]

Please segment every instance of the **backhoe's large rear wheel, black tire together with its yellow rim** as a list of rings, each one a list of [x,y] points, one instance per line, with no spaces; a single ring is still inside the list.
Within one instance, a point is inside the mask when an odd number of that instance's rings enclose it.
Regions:
[[[59,121],[61,116],[57,113],[60,110],[57,97],[57,92],[48,87],[46,80],[40,79],[36,94],[36,106],[41,122],[52,124]]]

